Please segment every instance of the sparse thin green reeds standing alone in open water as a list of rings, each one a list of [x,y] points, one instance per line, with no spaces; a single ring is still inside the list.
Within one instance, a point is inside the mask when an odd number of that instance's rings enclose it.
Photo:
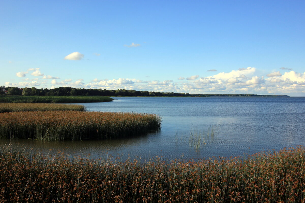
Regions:
[[[207,140],[213,139],[216,134],[217,129],[214,126],[203,132],[199,131],[198,128],[192,128],[188,137],[188,145],[190,148],[199,150],[206,144]]]

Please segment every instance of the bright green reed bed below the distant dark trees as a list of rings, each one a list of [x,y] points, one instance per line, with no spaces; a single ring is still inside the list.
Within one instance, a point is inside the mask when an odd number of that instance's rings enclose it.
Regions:
[[[107,96],[0,96],[0,103],[89,103],[112,100]]]

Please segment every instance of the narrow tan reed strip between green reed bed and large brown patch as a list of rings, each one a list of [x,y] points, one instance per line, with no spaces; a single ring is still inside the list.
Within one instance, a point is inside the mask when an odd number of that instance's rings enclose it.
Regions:
[[[15,111],[85,111],[83,105],[49,103],[0,103],[0,113]]]

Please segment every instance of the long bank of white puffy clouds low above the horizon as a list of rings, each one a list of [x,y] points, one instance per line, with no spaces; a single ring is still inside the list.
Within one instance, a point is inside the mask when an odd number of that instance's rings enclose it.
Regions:
[[[94,88],[94,89],[135,89],[156,92],[178,92],[178,93],[222,93],[222,94],[299,94],[305,96],[305,72],[298,73],[280,71],[264,75],[255,75],[257,69],[253,67],[239,68],[231,72],[220,72],[215,75],[200,77],[180,77],[176,81],[168,79],[164,81],[152,80],[143,81],[140,79],[118,78],[99,79],[90,81],[84,79],[60,79],[51,75],[44,75],[40,68],[30,68],[27,72],[17,72],[17,77],[25,77],[25,74],[32,71],[31,75],[40,78],[23,79],[27,82],[5,82],[6,86],[51,86]],[[42,76],[42,77],[41,77]],[[52,79],[51,81],[48,79]],[[185,80],[186,79],[186,80]]]

